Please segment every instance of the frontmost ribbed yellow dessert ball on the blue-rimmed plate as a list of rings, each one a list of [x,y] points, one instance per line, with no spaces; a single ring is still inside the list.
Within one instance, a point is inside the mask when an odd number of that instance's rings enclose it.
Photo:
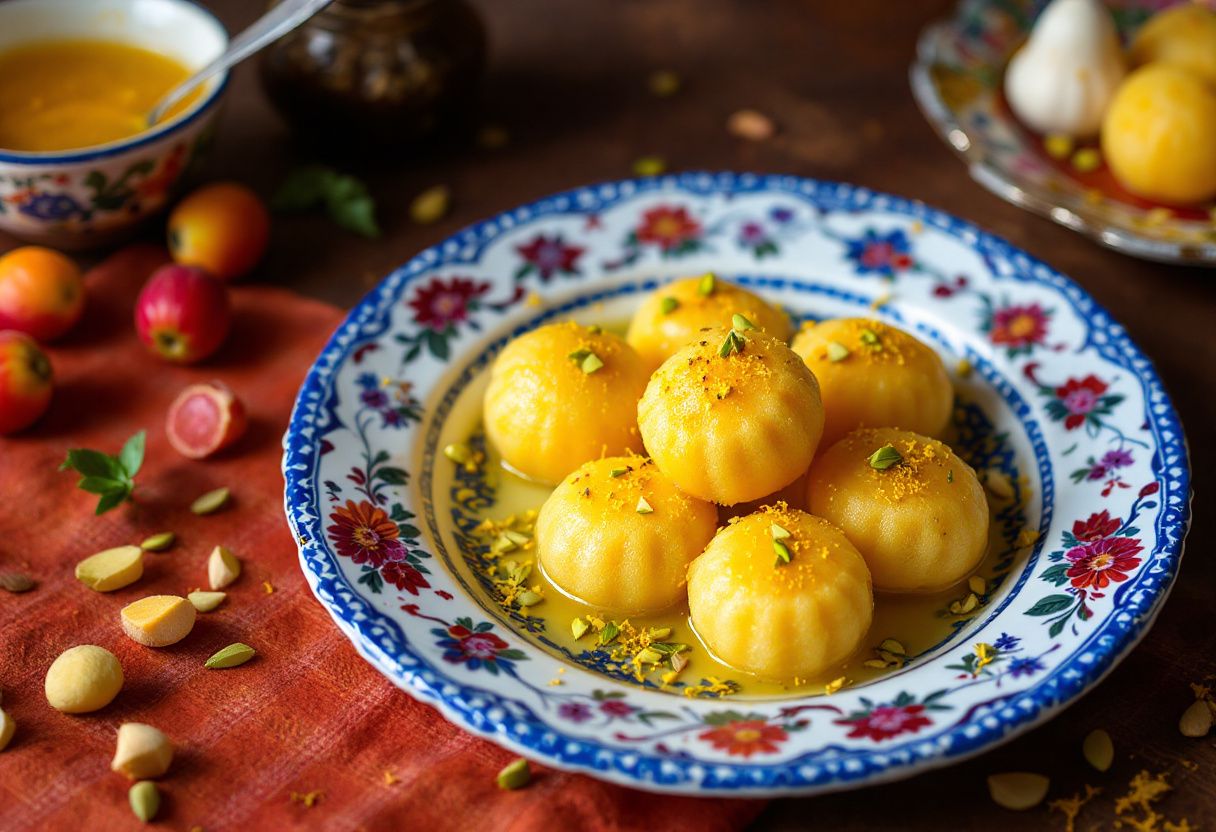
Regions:
[[[857,650],[874,596],[865,560],[840,529],[778,505],[732,521],[692,562],[688,611],[722,662],[792,680]]]

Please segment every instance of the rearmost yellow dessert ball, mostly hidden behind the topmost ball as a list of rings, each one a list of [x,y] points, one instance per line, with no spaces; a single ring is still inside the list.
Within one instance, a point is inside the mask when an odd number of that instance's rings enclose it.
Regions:
[[[629,324],[625,339],[653,370],[702,330],[731,326],[743,315],[775,338],[789,341],[789,315],[745,288],[714,275],[686,277],[652,292]]]

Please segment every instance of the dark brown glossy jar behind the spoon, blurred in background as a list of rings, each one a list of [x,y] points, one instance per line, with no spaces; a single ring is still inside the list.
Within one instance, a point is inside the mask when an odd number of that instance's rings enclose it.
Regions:
[[[263,52],[261,80],[300,137],[385,147],[468,116],[484,67],[465,0],[336,0]]]

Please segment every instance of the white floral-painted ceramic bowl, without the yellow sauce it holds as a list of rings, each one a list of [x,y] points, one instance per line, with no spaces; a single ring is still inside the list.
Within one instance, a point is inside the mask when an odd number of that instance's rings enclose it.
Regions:
[[[224,24],[190,0],[9,0],[0,50],[38,39],[103,39],[201,68],[227,47]],[[0,230],[79,249],[129,235],[167,204],[206,150],[226,75],[185,112],[122,141],[61,152],[0,148]]]

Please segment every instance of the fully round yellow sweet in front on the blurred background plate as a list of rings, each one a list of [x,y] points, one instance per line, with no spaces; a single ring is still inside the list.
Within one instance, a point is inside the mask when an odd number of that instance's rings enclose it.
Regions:
[[[1169,63],[1141,67],[1107,108],[1102,153],[1120,185],[1148,199],[1216,197],[1216,88]]]

